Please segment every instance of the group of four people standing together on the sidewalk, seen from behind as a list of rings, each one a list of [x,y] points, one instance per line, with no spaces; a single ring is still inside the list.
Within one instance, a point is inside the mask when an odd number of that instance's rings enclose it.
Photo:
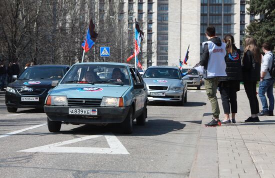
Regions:
[[[249,100],[251,116],[245,122],[259,122],[258,116],[273,116],[275,79],[270,75],[274,66],[274,55],[270,43],[262,44],[263,54],[252,37],[244,40],[244,52],[240,59],[240,50],[234,45],[234,38],[226,35],[221,42],[215,36],[215,28],[209,26],[205,36],[207,41],[202,43],[202,54],[199,64],[203,66],[205,90],[212,108],[212,120],[205,126],[220,126],[221,123],[235,123],[237,113],[237,95],[240,82],[243,82],[246,96]],[[259,82],[258,96],[262,104],[259,111],[256,85]],[[219,120],[219,107],[216,90],[219,90],[224,119]],[[269,106],[265,97],[267,95]],[[230,109],[231,108],[231,109]],[[231,113],[231,118],[230,118]]]

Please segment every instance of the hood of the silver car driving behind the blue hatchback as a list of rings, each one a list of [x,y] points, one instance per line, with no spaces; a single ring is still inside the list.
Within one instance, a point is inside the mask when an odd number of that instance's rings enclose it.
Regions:
[[[179,79],[143,78],[148,86],[177,86],[182,83]]]

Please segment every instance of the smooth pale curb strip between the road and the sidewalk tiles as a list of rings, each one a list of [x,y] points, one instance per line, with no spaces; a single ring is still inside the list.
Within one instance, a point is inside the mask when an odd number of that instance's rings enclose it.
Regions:
[[[211,104],[207,98],[189,177],[218,177],[219,175],[216,127],[204,126],[211,121],[210,112]]]

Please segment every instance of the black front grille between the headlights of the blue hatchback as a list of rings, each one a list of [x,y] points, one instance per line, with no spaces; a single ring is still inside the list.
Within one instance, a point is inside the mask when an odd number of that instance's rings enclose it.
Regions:
[[[69,106],[100,106],[102,99],[68,98]]]

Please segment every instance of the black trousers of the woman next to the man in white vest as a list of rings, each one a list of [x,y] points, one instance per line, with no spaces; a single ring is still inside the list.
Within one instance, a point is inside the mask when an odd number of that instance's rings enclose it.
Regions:
[[[219,83],[219,93],[222,101],[224,114],[237,113],[237,91],[239,81],[221,81]]]

